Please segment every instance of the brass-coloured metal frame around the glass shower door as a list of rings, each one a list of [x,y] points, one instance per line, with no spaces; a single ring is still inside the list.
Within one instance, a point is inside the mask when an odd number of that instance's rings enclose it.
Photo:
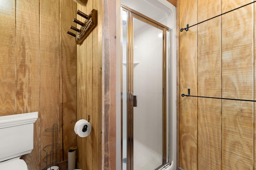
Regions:
[[[167,31],[171,31],[170,28],[167,28],[166,26],[144,16],[143,14],[140,14],[126,6],[122,6],[121,5],[121,11],[125,10],[128,14],[127,17],[127,170],[133,170],[134,169],[134,162],[133,162],[133,147],[134,147],[134,143],[133,143],[133,107],[134,107],[134,94],[133,94],[133,28],[132,28],[132,18],[136,18],[142,22],[145,22],[147,24],[150,24],[151,26],[154,26],[156,28],[159,28],[160,30],[163,31],[163,43],[162,43],[162,76],[163,76],[163,91],[162,91],[162,113],[163,113],[163,118],[162,118],[162,137],[163,137],[163,158],[162,158],[162,165],[160,167],[158,167],[157,169],[163,168],[164,166],[166,166],[166,164],[170,164],[171,162],[169,162],[169,160],[166,160],[166,155],[169,154],[166,151],[167,148],[167,143],[166,143],[166,138],[168,137],[168,134],[166,134],[167,130],[167,125],[166,122],[170,121],[169,119],[166,119],[166,114],[167,114],[167,102],[166,102],[166,97],[168,97],[166,95],[166,89],[167,89],[167,79],[168,77],[166,76],[166,32]],[[122,12],[121,12],[122,14]],[[122,18],[122,17],[121,17]],[[122,69],[121,69],[122,70]],[[122,74],[122,73],[121,73]],[[123,83],[122,81],[123,78],[121,78],[121,84]],[[121,86],[122,87],[122,86]],[[121,88],[121,93],[123,92],[122,88]],[[123,129],[123,124],[122,124],[122,120],[123,120],[123,111],[122,111],[122,97],[121,97],[121,128]],[[170,122],[169,122],[170,124]],[[123,132],[123,130],[121,130],[121,133]],[[170,133],[170,132],[169,132]],[[121,136],[123,136],[121,134]],[[122,139],[123,140],[123,139]],[[169,141],[169,140],[168,140]],[[123,146],[121,144],[121,146]],[[170,147],[169,147],[170,149]],[[121,155],[122,155],[122,150],[121,149]],[[168,158],[170,158],[170,155],[168,156]],[[122,166],[121,166],[122,167]]]

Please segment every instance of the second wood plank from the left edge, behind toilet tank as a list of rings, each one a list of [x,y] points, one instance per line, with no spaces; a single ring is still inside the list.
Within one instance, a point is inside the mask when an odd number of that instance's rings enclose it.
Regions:
[[[39,1],[17,0],[16,16],[17,113],[39,112]],[[39,169],[39,119],[34,124],[34,148],[23,156],[29,169]]]

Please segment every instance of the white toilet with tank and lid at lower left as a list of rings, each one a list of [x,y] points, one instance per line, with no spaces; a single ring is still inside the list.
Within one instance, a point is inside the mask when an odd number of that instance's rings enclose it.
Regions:
[[[0,117],[0,170],[28,170],[20,157],[32,151],[38,112]]]

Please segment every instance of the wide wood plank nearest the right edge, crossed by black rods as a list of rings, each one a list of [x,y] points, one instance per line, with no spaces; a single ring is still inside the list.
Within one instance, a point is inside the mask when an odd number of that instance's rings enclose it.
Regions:
[[[230,1],[222,1],[223,9],[229,5]],[[252,29],[248,28],[252,28],[252,5],[222,16],[224,98],[252,99]],[[252,134],[252,103],[222,100],[223,169],[252,169]]]

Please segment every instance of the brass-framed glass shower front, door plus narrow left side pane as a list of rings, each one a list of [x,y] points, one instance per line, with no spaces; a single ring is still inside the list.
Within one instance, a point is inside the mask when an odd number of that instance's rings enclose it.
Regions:
[[[168,30],[122,8],[122,170],[168,161]]]

